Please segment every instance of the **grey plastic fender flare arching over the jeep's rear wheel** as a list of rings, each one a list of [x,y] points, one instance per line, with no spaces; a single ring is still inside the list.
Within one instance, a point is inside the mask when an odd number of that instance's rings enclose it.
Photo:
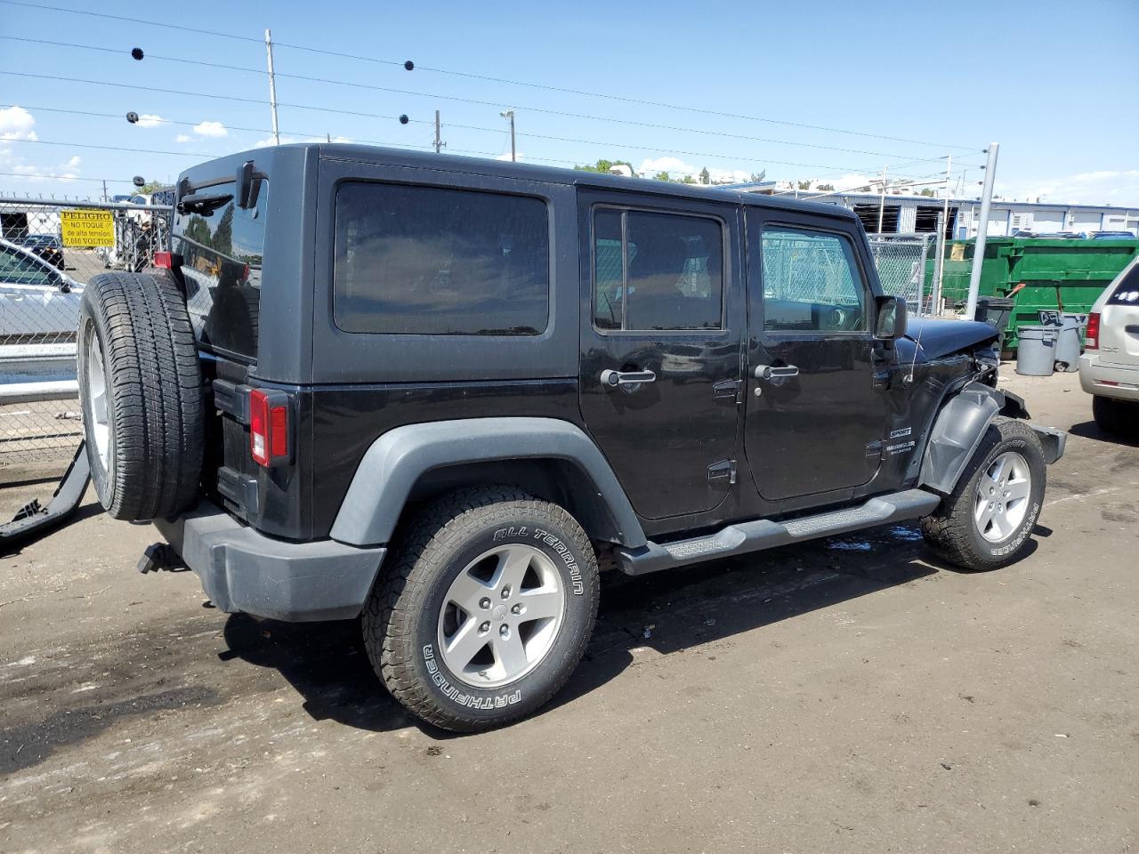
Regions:
[[[616,525],[622,545],[647,542],[629,498],[608,461],[585,433],[554,418],[472,418],[388,430],[364,452],[331,536],[352,545],[391,541],[416,482],[446,466],[495,460],[565,460],[592,483]]]

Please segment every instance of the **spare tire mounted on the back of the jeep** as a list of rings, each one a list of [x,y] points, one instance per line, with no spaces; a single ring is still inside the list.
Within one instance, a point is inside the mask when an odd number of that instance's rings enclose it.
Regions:
[[[88,282],[79,387],[91,481],[107,512],[146,520],[189,507],[202,476],[205,404],[172,276],[101,273]]]

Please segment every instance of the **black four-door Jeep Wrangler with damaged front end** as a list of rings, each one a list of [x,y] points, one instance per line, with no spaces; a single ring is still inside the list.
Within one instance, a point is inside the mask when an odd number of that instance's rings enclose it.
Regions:
[[[1064,451],[837,206],[301,145],[186,172],[171,248],[83,295],[99,500],[224,611],[360,618],[452,730],[550,699],[599,567],[920,518],[988,569]]]

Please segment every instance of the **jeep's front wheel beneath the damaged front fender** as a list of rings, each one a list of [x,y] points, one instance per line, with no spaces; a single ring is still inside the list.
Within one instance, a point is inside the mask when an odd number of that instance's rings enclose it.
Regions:
[[[966,569],[995,569],[1024,553],[1044,498],[1044,453],[1024,424],[997,419],[937,509],[926,542]]]

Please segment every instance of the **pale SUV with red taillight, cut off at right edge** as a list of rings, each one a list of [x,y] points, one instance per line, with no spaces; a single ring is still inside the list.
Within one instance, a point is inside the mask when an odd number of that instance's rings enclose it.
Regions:
[[[1139,256],[1091,306],[1080,385],[1096,424],[1113,433],[1139,429]]]

